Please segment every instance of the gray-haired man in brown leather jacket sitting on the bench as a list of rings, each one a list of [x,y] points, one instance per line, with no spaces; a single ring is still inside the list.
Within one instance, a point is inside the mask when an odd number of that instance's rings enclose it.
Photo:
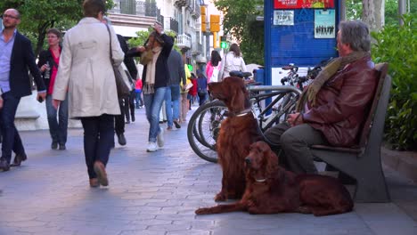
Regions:
[[[297,112],[265,133],[273,149],[282,150],[277,152],[280,164],[295,173],[317,173],[311,145],[357,145],[372,105],[378,73],[369,28],[358,20],[342,21],[337,42],[339,57],[304,89]]]

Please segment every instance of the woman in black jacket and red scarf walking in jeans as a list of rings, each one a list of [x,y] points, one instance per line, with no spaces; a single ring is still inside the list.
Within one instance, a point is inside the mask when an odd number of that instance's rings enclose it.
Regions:
[[[55,77],[58,73],[58,65],[60,64],[61,55],[61,32],[56,28],[50,28],[46,31],[49,48],[39,53],[39,61],[37,67],[40,68],[44,83],[47,88],[46,93],[46,115],[48,117],[49,133],[51,134],[52,143],[51,149],[66,150],[65,143],[67,142],[68,130],[68,99],[61,101],[59,111],[53,108],[52,93]],[[57,113],[58,118],[57,119]]]

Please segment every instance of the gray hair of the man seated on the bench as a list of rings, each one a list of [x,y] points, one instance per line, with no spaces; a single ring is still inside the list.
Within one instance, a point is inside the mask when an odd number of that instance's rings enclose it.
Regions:
[[[347,20],[339,23],[342,44],[350,45],[355,52],[371,51],[371,36],[368,26],[360,20]]]

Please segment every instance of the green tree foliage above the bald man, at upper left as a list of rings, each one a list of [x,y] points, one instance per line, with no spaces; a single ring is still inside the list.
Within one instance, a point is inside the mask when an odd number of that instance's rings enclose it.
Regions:
[[[35,46],[35,55],[42,50],[48,28],[61,31],[71,28],[83,16],[83,0],[2,0],[0,10],[15,8],[20,12],[19,30],[29,37]],[[106,0],[108,9],[113,1]]]

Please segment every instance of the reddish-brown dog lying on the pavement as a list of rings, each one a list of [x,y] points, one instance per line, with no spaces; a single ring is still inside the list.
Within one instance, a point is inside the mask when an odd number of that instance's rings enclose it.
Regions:
[[[323,216],[347,213],[354,207],[349,192],[339,180],[285,170],[278,166],[278,158],[266,142],[250,145],[245,165],[246,190],[240,201],[199,208],[195,214],[248,211],[249,214],[297,212]]]

